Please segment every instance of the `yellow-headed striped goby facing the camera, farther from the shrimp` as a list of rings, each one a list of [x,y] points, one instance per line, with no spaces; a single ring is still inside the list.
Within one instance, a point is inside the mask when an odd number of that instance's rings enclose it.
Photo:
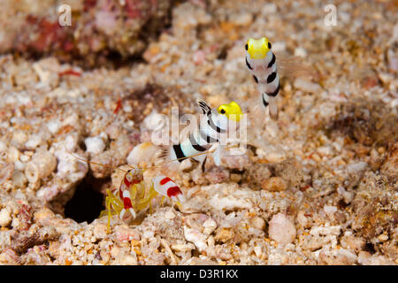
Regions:
[[[279,75],[272,44],[267,38],[249,38],[245,45],[246,65],[253,75],[264,107],[269,106],[272,119],[278,119],[276,96],[279,93]]]

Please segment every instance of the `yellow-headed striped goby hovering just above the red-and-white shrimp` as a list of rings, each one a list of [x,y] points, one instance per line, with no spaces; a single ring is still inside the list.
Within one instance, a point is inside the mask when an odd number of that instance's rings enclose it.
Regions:
[[[177,159],[176,163],[192,157],[204,165],[207,155],[202,153],[220,142],[223,134],[227,134],[230,120],[239,122],[241,119],[241,106],[238,103],[222,104],[213,109],[203,100],[198,100],[197,103],[203,111],[199,127],[189,133],[188,138],[168,149],[169,159]],[[216,150],[213,157],[219,165],[219,150]]]

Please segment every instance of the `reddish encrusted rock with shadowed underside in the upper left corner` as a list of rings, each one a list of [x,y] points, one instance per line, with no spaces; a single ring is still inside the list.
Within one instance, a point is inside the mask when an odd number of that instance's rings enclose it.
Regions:
[[[170,24],[172,0],[4,0],[0,53],[88,67],[136,57]],[[113,61],[113,62],[112,62]]]

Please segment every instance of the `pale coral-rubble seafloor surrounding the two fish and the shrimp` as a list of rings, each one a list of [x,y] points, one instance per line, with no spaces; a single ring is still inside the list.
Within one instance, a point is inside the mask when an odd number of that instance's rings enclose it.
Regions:
[[[323,1],[70,0],[72,27],[37,3],[0,11],[0,264],[398,264],[396,2],[333,1],[327,26]],[[292,65],[246,154],[185,162],[187,203],[107,233],[118,173],[69,151],[119,167],[152,113],[250,110],[261,36],[315,75]]]

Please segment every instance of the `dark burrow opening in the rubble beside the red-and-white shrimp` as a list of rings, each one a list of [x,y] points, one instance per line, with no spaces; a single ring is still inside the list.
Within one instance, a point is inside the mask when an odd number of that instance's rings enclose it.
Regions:
[[[78,223],[91,223],[98,218],[105,209],[100,187],[109,181],[110,178],[95,179],[88,174],[76,187],[71,200],[65,204],[65,218],[73,218]]]

